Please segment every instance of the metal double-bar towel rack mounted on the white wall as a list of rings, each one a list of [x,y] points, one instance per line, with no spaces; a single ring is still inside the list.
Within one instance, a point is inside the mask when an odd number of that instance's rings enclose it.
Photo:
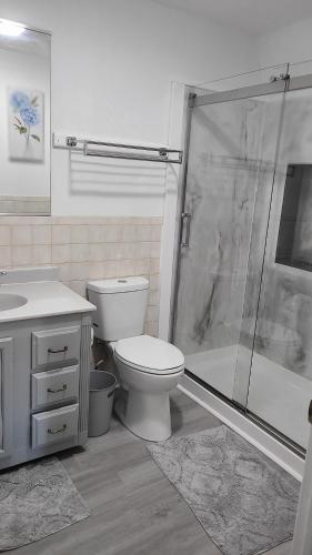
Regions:
[[[59,135],[57,133],[53,133],[53,148],[81,152],[85,157],[120,158],[171,164],[181,164],[183,160],[182,150],[172,150],[164,147],[140,147],[138,144],[93,141],[90,139],[78,139],[73,135]]]

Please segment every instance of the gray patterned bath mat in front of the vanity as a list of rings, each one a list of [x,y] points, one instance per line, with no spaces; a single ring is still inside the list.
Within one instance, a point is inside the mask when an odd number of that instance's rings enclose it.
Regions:
[[[0,551],[30,544],[89,515],[56,457],[0,474]]]

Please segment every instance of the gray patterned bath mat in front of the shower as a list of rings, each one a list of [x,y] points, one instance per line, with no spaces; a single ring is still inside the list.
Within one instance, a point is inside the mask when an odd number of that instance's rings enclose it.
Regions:
[[[299,482],[227,426],[148,450],[224,555],[291,539]]]

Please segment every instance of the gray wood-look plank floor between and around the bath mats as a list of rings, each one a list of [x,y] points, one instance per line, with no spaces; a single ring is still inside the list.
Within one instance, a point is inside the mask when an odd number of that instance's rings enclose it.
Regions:
[[[214,427],[219,421],[182,393],[172,395],[174,434]],[[145,442],[112,421],[85,450],[60,455],[92,514],[13,555],[221,555],[168,478]],[[268,555],[291,555],[288,542]]]

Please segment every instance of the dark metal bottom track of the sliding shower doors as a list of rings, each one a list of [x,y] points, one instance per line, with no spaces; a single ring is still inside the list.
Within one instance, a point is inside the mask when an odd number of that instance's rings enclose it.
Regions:
[[[299,445],[298,443],[295,443],[292,440],[290,440],[286,435],[284,435],[281,432],[279,432],[279,430],[276,430],[275,427],[273,427],[270,424],[268,424],[268,422],[263,421],[262,418],[260,418],[259,416],[256,416],[255,414],[253,414],[248,408],[244,408],[242,405],[240,405],[235,401],[233,401],[233,400],[227,397],[225,395],[223,395],[222,393],[220,393],[218,390],[215,390],[214,387],[212,387],[211,385],[209,385],[207,382],[204,382],[203,380],[201,380],[200,377],[198,377],[195,374],[193,374],[192,372],[190,372],[188,369],[185,369],[184,372],[185,372],[185,375],[188,377],[190,377],[195,383],[198,383],[199,385],[201,385],[202,387],[204,387],[204,390],[209,391],[209,393],[211,393],[215,397],[220,398],[228,406],[231,406],[232,408],[235,408],[235,411],[238,411],[242,416],[244,416],[246,420],[251,421],[258,427],[260,427],[261,430],[263,430],[264,432],[266,432],[266,434],[271,435],[271,437],[274,437],[275,440],[278,440],[285,447],[288,447],[290,451],[292,451],[292,453],[294,453],[295,455],[300,456],[302,460],[305,458],[306,450],[304,450],[303,447],[301,447],[301,445]]]

